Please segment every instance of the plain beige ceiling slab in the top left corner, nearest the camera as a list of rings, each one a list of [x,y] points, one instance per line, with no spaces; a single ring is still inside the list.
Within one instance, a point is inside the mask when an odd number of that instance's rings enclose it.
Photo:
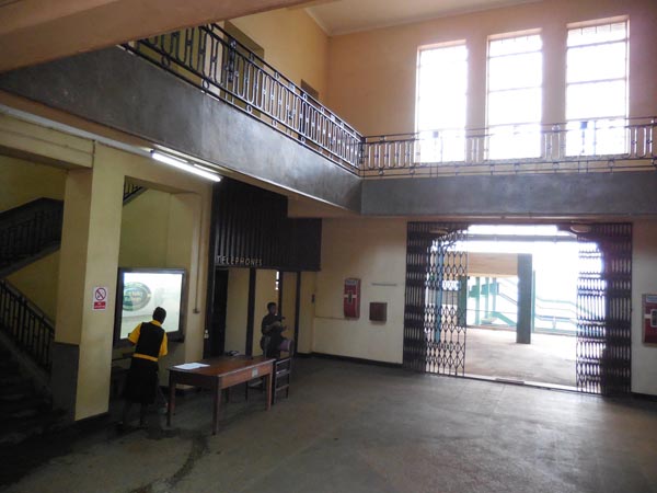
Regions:
[[[0,72],[307,0],[0,0]]]

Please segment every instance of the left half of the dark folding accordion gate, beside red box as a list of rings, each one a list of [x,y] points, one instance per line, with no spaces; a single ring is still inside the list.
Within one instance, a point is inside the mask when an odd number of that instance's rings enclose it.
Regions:
[[[404,366],[463,375],[468,253],[458,248],[466,225],[410,222],[406,250]]]

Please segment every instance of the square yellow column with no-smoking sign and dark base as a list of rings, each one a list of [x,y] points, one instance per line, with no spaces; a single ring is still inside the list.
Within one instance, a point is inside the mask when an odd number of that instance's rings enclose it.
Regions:
[[[103,153],[69,171],[65,192],[53,393],[76,421],[108,409],[124,176]],[[95,287],[107,289],[104,310]]]

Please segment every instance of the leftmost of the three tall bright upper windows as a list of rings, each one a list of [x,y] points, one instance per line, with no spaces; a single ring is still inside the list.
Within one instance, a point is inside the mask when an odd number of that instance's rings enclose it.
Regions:
[[[423,47],[417,57],[416,130],[422,162],[465,159],[465,43]]]

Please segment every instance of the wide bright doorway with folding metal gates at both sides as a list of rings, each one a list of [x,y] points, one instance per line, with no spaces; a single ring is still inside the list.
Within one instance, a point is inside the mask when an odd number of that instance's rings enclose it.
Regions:
[[[632,225],[410,222],[406,259],[406,368],[630,392]]]

